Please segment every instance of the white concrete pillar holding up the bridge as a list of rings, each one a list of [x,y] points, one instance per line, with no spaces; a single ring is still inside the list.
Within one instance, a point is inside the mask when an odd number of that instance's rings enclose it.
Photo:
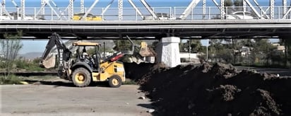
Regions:
[[[181,64],[179,42],[179,37],[162,37],[157,46],[157,62],[163,62],[170,67]]]

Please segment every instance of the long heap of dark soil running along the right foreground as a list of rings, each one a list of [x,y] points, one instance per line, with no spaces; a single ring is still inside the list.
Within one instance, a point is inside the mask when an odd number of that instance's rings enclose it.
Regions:
[[[154,115],[291,115],[291,78],[226,64],[131,65],[131,76],[157,107]]]

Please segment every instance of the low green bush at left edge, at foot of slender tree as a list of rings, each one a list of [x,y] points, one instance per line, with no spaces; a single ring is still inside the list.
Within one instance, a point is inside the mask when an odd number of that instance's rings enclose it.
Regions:
[[[20,81],[21,80],[15,75],[9,75],[7,77],[0,76],[0,84],[1,85],[4,85],[4,84],[21,84]]]

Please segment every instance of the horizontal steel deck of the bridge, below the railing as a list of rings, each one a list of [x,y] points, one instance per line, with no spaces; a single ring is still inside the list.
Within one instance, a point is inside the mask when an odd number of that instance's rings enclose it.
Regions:
[[[1,21],[0,34],[23,30],[24,36],[46,39],[52,32],[66,37],[259,37],[286,36],[290,20],[199,20],[199,21]],[[30,38],[31,39],[31,38]]]

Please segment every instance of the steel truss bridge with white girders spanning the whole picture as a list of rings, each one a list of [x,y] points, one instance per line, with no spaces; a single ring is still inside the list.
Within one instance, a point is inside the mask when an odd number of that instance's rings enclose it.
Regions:
[[[68,39],[182,38],[278,38],[291,34],[291,0],[243,0],[242,6],[225,6],[224,0],[192,0],[188,6],[151,7],[145,0],[99,0],[85,7],[84,0],[68,0],[59,7],[53,0],[41,0],[39,7],[26,7],[25,0],[2,0],[0,37],[23,31],[23,39],[46,39],[53,32]],[[14,7],[6,4],[11,2]],[[124,7],[127,2],[131,7]],[[143,6],[137,6],[140,2]],[[17,3],[20,3],[18,5]],[[117,4],[112,7],[112,4]],[[240,12],[242,14],[235,14]],[[76,13],[83,13],[78,21]],[[247,13],[251,13],[250,16]],[[88,21],[91,14],[100,21]],[[240,16],[239,16],[240,15]],[[91,15],[92,16],[92,15]]]

